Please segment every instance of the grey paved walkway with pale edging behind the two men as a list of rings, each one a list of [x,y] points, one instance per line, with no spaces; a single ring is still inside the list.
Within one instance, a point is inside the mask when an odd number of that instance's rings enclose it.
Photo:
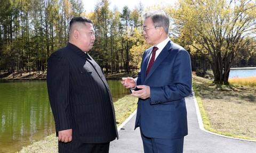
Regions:
[[[245,141],[223,137],[203,129],[201,115],[194,96],[186,98],[188,112],[188,135],[184,140],[185,153],[256,153],[256,141]],[[143,152],[140,130],[134,130],[135,113],[119,130],[119,140],[110,142],[110,153]]]

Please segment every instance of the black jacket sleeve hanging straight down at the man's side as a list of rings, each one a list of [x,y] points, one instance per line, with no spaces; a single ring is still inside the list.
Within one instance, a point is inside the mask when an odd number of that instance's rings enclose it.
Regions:
[[[69,108],[69,65],[61,52],[54,52],[47,66],[47,89],[56,132],[71,129]]]

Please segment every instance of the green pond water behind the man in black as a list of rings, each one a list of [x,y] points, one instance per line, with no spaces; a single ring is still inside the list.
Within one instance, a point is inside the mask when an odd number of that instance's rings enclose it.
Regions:
[[[129,94],[119,80],[108,80],[113,100]],[[46,81],[0,81],[0,153],[54,133]]]

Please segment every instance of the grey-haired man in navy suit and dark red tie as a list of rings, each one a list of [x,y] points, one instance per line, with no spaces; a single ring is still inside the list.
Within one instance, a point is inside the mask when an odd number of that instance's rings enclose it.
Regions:
[[[145,14],[143,35],[154,47],[143,53],[138,78],[121,81],[139,98],[135,128],[140,127],[145,153],[183,152],[188,134],[185,97],[192,86],[190,56],[170,40],[169,24],[164,12]]]

